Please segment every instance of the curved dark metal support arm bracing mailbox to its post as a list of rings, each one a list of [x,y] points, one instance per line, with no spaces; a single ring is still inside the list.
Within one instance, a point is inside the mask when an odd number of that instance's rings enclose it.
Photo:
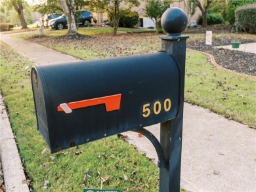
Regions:
[[[158,168],[164,168],[167,166],[167,162],[165,160],[165,155],[163,153],[163,149],[161,148],[161,144],[158,139],[148,130],[145,128],[138,128],[133,130],[133,132],[138,132],[144,135],[150,142],[154,145],[156,149],[156,153],[158,153]]]

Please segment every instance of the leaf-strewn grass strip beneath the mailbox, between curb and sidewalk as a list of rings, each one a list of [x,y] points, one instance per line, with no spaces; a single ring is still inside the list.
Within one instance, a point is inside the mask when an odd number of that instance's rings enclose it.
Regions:
[[[47,191],[100,189],[101,180],[106,180],[105,189],[158,191],[158,168],[117,136],[51,154],[37,131],[30,76],[24,75],[24,67],[32,63],[7,45],[0,45],[1,92],[34,191],[45,191],[47,180]]]

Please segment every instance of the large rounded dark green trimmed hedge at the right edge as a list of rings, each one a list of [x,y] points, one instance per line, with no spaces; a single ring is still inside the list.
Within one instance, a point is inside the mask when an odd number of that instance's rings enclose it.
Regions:
[[[256,33],[256,3],[236,9],[236,21],[248,33]]]

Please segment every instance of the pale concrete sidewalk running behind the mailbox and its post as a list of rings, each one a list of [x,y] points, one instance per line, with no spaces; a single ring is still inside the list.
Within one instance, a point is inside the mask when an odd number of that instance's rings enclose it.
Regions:
[[[1,35],[1,41],[35,64],[76,61],[10,35]],[[148,130],[159,139],[160,125],[150,126]],[[157,162],[155,149],[145,137],[139,138],[135,132],[123,134]],[[256,191],[256,130],[202,107],[185,104],[181,177],[181,185],[188,191]]]

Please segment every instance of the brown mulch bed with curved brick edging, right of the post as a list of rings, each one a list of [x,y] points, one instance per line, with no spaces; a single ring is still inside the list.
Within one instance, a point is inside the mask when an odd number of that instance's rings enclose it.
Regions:
[[[230,26],[228,25],[207,26],[207,28],[188,28],[184,31],[184,34],[205,34],[206,31],[228,33],[229,29]],[[243,34],[241,34],[241,36],[242,35]],[[233,40],[234,38],[231,37],[218,37],[218,39],[213,39],[213,45],[205,45],[205,39],[201,39],[198,41],[188,41],[187,47],[212,54],[217,64],[226,69],[256,76],[256,54],[238,50],[228,50],[226,48],[214,48],[217,46],[231,45]],[[255,40],[251,39],[236,38],[236,40],[245,44],[255,43]]]

